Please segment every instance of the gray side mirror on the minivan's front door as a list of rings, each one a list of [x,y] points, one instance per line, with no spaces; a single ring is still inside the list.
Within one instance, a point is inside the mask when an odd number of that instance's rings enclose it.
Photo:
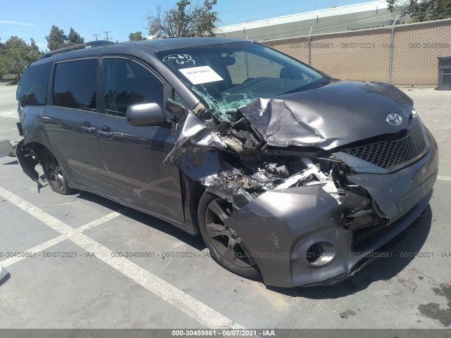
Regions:
[[[146,127],[161,125],[166,121],[163,111],[158,104],[132,104],[127,108],[125,118],[130,125]]]

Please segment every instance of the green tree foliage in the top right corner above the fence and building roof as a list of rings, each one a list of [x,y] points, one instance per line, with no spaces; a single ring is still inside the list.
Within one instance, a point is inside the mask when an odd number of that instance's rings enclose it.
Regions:
[[[451,0],[387,0],[388,10],[401,17],[409,15],[412,22],[451,18]]]

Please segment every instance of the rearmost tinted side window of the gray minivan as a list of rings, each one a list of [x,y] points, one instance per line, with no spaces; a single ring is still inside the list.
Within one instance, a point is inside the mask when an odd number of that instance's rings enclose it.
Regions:
[[[16,92],[22,106],[45,104],[50,68],[51,62],[47,62],[25,69]]]

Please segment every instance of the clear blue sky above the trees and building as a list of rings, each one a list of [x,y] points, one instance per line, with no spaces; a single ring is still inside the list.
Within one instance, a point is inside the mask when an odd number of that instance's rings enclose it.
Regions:
[[[47,48],[46,35],[51,25],[68,34],[73,27],[85,42],[92,41],[94,34],[105,37],[109,32],[113,42],[127,41],[131,32],[142,31],[147,35],[147,15],[161,8],[175,6],[178,0],[0,0],[0,39],[6,42],[12,35],[30,42],[33,38],[41,50]],[[273,18],[279,15],[302,13],[327,8],[359,4],[365,0],[218,0],[221,23],[230,25],[249,20]],[[202,3],[202,0],[199,0]],[[196,4],[196,0],[192,1]]]

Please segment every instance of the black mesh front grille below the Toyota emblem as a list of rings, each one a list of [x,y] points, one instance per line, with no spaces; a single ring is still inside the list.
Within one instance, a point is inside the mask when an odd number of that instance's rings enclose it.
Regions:
[[[416,118],[406,136],[400,139],[355,146],[343,151],[381,168],[389,169],[414,160],[426,150],[426,146],[423,128],[419,118]]]

